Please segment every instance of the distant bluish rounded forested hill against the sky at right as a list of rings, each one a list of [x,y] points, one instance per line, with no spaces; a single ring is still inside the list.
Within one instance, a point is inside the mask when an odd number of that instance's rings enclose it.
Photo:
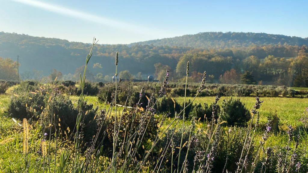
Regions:
[[[290,37],[278,34],[244,33],[244,32],[202,32],[198,34],[183,35],[174,38],[149,40],[135,44],[153,44],[154,46],[190,46],[194,48],[224,49],[231,47],[248,47],[251,45],[308,45],[307,38]]]

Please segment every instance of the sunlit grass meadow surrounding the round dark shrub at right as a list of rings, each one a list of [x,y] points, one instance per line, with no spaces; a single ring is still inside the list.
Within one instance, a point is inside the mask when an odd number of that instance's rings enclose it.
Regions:
[[[229,99],[230,97],[221,97],[218,101],[218,104],[221,105],[224,99]],[[184,97],[174,98],[179,103],[184,101]],[[193,99],[193,97],[187,97],[186,100]],[[215,97],[197,97],[194,103],[207,103],[211,104],[215,100]],[[300,126],[302,122],[298,120],[301,118],[304,110],[308,107],[307,98],[279,98],[279,97],[260,97],[261,101],[264,101],[261,105],[260,111],[260,120],[265,123],[267,121],[267,116],[274,114],[277,111],[277,114],[280,119],[280,124],[284,127],[286,125]],[[245,103],[247,109],[252,109],[256,101],[254,97],[241,97],[240,101]],[[282,127],[283,128],[283,127]]]

